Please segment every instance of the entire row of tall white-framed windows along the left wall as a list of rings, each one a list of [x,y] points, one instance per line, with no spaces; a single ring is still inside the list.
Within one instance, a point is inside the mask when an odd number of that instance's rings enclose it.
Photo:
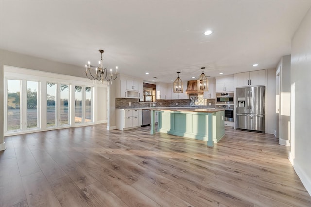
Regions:
[[[5,135],[91,124],[98,117],[106,121],[106,102],[94,116],[94,93],[106,101],[105,84],[5,65],[4,78]],[[98,88],[104,89],[104,96]]]

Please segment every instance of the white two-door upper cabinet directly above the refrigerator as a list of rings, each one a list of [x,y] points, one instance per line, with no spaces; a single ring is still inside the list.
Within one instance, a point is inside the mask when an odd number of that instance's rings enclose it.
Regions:
[[[265,79],[265,70],[256,70],[235,74],[237,87],[265,85]]]

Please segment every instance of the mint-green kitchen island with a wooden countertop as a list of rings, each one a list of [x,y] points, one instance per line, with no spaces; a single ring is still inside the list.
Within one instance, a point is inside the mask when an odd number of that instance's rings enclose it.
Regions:
[[[223,109],[158,108],[151,110],[150,134],[155,134],[155,112],[158,112],[158,132],[205,140],[210,147],[225,135]]]

